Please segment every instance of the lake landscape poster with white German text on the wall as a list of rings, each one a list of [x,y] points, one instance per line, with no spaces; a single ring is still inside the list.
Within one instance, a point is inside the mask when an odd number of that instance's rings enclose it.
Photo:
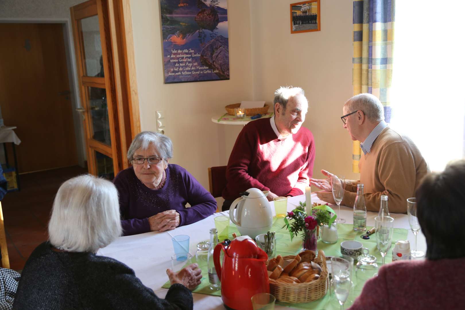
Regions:
[[[165,83],[229,79],[226,0],[161,0]]]

